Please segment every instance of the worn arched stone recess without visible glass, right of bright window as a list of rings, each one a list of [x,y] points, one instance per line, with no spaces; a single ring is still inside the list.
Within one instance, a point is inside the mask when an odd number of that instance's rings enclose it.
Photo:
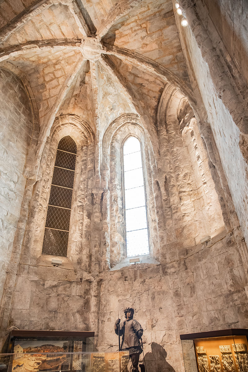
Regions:
[[[198,244],[202,237],[223,230],[224,221],[194,112],[187,98],[168,85],[158,104],[157,128],[159,137],[166,139],[161,157],[170,166],[164,177],[172,216],[177,216],[173,224],[180,227],[174,240]]]

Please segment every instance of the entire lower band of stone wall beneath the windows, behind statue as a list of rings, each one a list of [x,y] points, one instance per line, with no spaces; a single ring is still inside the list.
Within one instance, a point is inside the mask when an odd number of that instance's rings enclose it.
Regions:
[[[231,235],[181,250],[174,262],[110,272],[21,265],[10,325],[94,330],[97,350],[117,350],[114,322],[132,306],[144,327],[148,371],[180,372],[180,334],[248,326],[245,283]]]

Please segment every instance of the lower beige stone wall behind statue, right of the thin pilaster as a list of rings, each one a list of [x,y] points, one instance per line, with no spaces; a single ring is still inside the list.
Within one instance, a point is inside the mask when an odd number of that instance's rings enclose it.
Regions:
[[[223,236],[216,236],[213,243]],[[248,325],[246,275],[232,235],[212,247],[180,250],[171,262],[100,275],[97,348],[117,349],[113,324],[118,311],[124,318],[123,308],[132,306],[144,327],[148,371],[184,371],[180,334]]]

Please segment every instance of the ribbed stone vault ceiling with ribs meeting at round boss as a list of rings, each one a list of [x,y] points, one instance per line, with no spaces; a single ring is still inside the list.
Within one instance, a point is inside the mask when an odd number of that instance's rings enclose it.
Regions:
[[[44,133],[66,113],[102,134],[123,113],[155,123],[165,83],[190,92],[171,0],[3,0],[0,27],[0,65],[25,75]]]

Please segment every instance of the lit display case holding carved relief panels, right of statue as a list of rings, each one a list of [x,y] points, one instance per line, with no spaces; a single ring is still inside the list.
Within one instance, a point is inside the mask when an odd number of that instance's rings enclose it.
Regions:
[[[186,372],[248,372],[248,330],[180,335]]]

